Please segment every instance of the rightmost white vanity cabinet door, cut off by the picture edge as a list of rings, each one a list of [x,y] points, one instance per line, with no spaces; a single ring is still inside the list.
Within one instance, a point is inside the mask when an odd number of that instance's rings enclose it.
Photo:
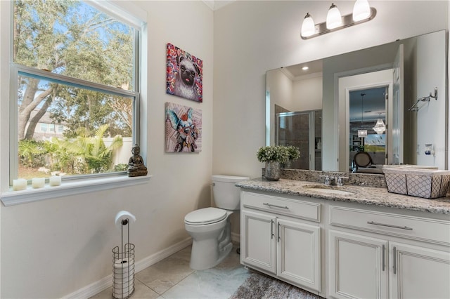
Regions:
[[[450,253],[390,242],[391,298],[450,298]]]

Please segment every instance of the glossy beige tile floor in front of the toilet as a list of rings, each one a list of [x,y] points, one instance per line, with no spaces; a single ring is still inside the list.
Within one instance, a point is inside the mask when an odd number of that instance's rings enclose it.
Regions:
[[[234,245],[233,251],[216,267],[195,271],[189,267],[191,246],[188,246],[136,273],[130,299],[229,298],[250,276],[250,270],[240,265],[236,248]],[[107,298],[113,298],[112,287],[91,297]]]

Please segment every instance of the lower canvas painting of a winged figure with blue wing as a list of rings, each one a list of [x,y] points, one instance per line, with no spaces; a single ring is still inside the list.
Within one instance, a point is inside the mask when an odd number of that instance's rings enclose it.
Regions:
[[[202,150],[202,110],[166,102],[166,152]]]

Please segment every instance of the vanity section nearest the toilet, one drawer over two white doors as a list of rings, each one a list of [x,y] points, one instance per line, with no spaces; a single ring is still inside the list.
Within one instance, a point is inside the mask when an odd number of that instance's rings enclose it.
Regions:
[[[240,262],[321,292],[321,200],[241,191]]]

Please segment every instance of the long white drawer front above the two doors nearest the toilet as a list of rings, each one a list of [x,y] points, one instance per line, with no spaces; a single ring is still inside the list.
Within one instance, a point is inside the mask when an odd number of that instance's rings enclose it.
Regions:
[[[253,208],[314,222],[321,221],[321,204],[319,203],[245,191],[241,192],[240,201],[243,208]]]

